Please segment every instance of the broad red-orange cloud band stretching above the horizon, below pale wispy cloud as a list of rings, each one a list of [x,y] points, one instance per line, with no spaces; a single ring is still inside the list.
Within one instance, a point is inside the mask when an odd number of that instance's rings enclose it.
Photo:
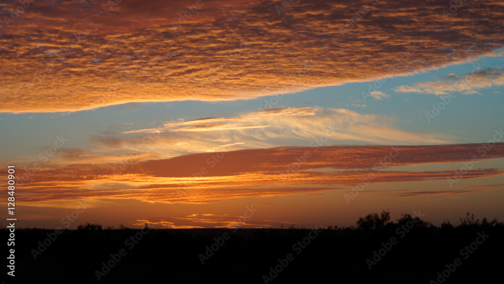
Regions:
[[[375,175],[371,183],[454,177],[453,171],[378,171],[376,168],[381,164],[504,157],[504,143],[496,143],[484,156],[478,152],[480,147],[481,144],[461,144],[401,146],[395,150],[390,146],[250,149],[142,161],[128,166],[120,175],[114,175],[115,166],[110,164],[74,164],[37,172],[21,185],[20,194],[25,202],[105,198],[208,203],[229,198],[315,193],[360,184],[370,173]],[[5,170],[0,173],[5,174]],[[504,172],[497,169],[480,168],[468,171],[462,179],[502,175]]]

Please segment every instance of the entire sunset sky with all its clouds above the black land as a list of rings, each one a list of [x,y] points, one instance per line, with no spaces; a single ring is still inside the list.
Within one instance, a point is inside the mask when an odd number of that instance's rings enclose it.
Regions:
[[[504,2],[288,3],[0,4],[21,226],[504,219]]]

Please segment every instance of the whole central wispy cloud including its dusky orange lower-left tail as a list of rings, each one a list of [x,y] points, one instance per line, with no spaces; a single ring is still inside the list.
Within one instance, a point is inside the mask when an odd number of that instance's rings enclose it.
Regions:
[[[321,146],[444,144],[456,140],[443,133],[402,130],[395,117],[363,115],[348,109],[287,107],[243,112],[234,117],[165,120],[140,129],[136,125],[117,125],[91,135],[87,150],[69,150],[53,162],[138,162],[187,153],[311,145],[321,138]]]

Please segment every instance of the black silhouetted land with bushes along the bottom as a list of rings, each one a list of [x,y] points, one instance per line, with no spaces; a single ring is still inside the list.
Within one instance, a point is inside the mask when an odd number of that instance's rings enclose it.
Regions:
[[[362,219],[357,227],[21,229],[16,230],[16,276],[4,272],[1,279],[5,283],[504,283],[502,223],[469,220],[437,228],[406,216],[388,223]],[[2,266],[7,267],[8,256],[2,255]]]

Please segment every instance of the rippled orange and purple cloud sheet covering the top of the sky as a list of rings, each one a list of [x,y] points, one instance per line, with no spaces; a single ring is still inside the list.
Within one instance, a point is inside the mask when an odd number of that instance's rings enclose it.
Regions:
[[[281,13],[281,2],[202,4],[179,21],[195,1],[38,0],[8,22],[20,4],[0,4],[0,111],[247,99],[411,74],[504,45],[503,1],[471,0],[448,17],[449,1],[297,1]]]

